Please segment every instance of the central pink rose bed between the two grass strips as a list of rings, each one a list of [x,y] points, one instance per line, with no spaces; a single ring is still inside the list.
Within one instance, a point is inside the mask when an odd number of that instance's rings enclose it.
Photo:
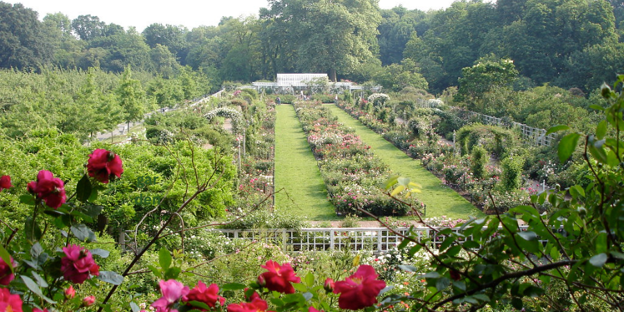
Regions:
[[[370,146],[320,105],[300,103],[295,109],[338,214],[360,214],[358,208],[379,216],[407,213],[408,207],[381,190],[391,173],[373,155]]]

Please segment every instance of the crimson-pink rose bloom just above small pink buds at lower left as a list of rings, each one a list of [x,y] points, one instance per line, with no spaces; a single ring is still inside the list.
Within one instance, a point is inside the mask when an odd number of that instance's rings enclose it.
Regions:
[[[89,250],[78,245],[63,247],[65,257],[61,259],[63,277],[76,284],[83,284],[89,275],[100,275],[100,266],[93,260]]]

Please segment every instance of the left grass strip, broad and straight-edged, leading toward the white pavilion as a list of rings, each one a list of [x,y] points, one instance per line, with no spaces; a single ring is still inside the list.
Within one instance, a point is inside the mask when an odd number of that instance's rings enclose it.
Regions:
[[[277,105],[275,207],[308,220],[338,220],[295,109]]]

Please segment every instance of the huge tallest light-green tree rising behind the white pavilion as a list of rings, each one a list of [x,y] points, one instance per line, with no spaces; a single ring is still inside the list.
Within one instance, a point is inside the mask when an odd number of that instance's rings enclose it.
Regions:
[[[288,29],[279,46],[295,47],[297,71],[327,72],[336,81],[338,72],[370,62],[379,49],[375,36],[381,15],[374,1],[275,0],[270,5],[261,18]]]

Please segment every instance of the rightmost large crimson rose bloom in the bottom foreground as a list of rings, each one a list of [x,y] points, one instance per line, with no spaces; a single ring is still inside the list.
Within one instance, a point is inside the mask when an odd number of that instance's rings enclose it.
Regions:
[[[336,281],[333,293],[340,293],[340,309],[359,310],[377,303],[379,291],[385,288],[385,281],[377,279],[372,266],[361,265],[344,281]]]

